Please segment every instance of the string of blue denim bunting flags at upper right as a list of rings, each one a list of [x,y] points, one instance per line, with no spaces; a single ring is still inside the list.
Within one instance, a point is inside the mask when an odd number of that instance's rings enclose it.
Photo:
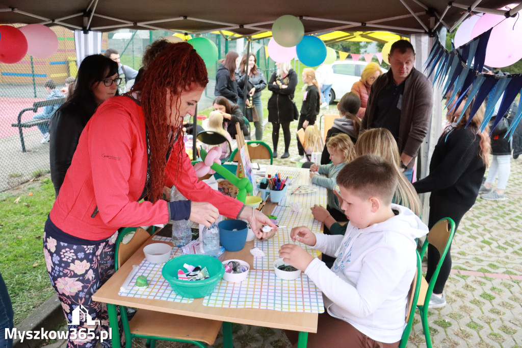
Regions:
[[[424,64],[424,73],[428,76],[433,75],[433,85],[438,84],[439,87],[442,87],[443,98],[447,97],[448,104],[456,100],[452,110],[448,110],[448,114],[455,113],[455,110],[464,102],[458,121],[469,109],[468,125],[484,100],[488,98],[479,132],[482,132],[493,118],[495,106],[499,101],[500,107],[491,130],[502,120],[516,96],[522,92],[522,74],[499,76],[482,73],[491,30],[458,48],[454,48],[452,43],[452,51],[447,51],[439,40],[433,40],[433,47]],[[379,59],[379,55],[376,55]],[[352,59],[355,60],[353,54]],[[521,104],[519,102],[519,107],[522,106]],[[521,119],[522,109],[519,108],[508,128],[506,137],[513,136]]]

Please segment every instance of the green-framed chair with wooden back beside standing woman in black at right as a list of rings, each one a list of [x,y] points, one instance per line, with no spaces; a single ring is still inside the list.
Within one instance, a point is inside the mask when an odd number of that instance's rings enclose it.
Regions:
[[[455,234],[455,222],[452,218],[445,217],[437,221],[435,225],[430,229],[428,233],[428,238],[424,241],[422,245],[422,250],[420,253],[420,258],[424,256],[426,249],[428,249],[428,244],[433,245],[437,248],[438,253],[441,256],[441,259],[437,263],[437,268],[431,277],[430,283],[428,285],[428,289],[426,290],[426,297],[424,298],[423,303],[418,303],[417,308],[419,308],[422,322],[422,330],[424,331],[424,337],[426,338],[426,346],[428,348],[432,348],[431,336],[430,336],[430,327],[428,325],[428,305],[430,304],[430,298],[433,293],[433,287],[435,286],[435,282],[437,281],[438,273],[441,271],[442,263],[446,254],[448,252],[449,246],[452,243],[453,235]],[[424,279],[421,279],[424,283],[426,282]]]

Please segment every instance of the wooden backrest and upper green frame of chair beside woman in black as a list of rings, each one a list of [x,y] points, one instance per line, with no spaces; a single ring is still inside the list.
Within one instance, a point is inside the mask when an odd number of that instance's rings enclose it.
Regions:
[[[422,251],[420,257],[424,256],[426,249],[428,249],[428,244],[433,245],[437,248],[439,255],[441,258],[438,260],[437,267],[433,272],[433,275],[430,280],[430,284],[428,286],[428,291],[426,291],[426,298],[424,300],[424,306],[427,306],[431,294],[433,293],[433,287],[435,286],[435,282],[437,281],[438,273],[441,271],[442,263],[446,258],[446,254],[448,252],[449,246],[452,243],[453,235],[455,234],[455,222],[450,217],[445,217],[437,221],[435,225],[430,229],[428,233],[428,238],[424,241],[422,245]]]

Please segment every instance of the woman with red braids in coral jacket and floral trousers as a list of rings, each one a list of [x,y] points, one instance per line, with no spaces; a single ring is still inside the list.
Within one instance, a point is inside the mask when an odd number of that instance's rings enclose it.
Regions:
[[[109,330],[106,306],[91,296],[113,273],[115,231],[122,226],[179,219],[210,226],[221,213],[245,219],[260,238],[266,237],[263,225],[275,227],[264,214],[198,182],[184,152],[182,123],[194,115],[207,83],[192,45],[170,44],[130,93],[103,102],[87,123],[43,238],[47,270],[69,323],[82,305],[101,320],[95,330]],[[175,185],[187,201],[162,200],[164,185]],[[88,327],[80,321],[71,328]],[[69,336],[68,347],[95,346],[97,340],[87,337]]]

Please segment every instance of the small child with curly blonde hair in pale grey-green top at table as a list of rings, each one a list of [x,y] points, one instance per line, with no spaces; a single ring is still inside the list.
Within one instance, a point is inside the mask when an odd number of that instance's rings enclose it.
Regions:
[[[328,189],[326,210],[331,216],[335,216],[338,221],[347,221],[346,215],[341,209],[339,200],[334,194],[333,189],[336,185],[336,178],[342,167],[355,158],[355,147],[350,137],[340,133],[330,137],[326,143],[330,153],[331,163],[327,165],[313,164],[310,167],[310,177],[312,183]],[[321,174],[326,175],[322,177]]]

